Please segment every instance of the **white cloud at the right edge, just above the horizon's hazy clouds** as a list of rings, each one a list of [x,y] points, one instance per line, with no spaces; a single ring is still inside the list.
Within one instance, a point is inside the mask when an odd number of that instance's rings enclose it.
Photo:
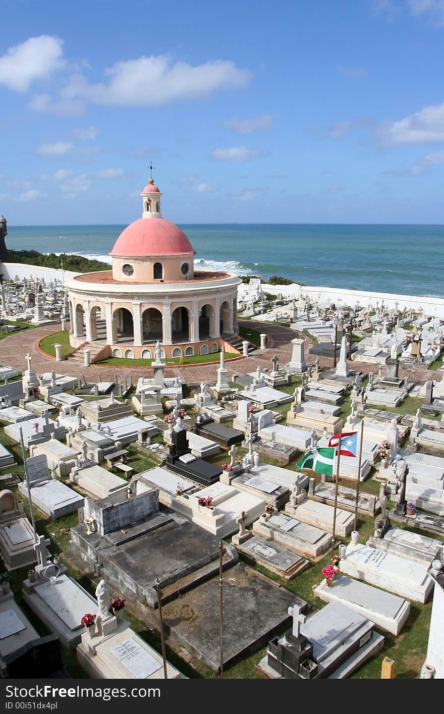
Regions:
[[[388,144],[440,144],[444,142],[444,103],[430,104],[405,119],[380,127]]]

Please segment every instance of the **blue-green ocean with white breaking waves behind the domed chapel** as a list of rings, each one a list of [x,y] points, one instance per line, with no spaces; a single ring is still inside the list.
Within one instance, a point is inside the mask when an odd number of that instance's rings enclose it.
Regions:
[[[14,250],[111,263],[125,226],[8,226]],[[181,224],[196,268],[272,275],[313,286],[444,297],[444,226]]]

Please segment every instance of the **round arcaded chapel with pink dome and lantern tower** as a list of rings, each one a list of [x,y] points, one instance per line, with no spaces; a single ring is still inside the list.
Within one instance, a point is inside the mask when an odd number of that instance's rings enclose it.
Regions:
[[[71,346],[108,346],[109,356],[153,358],[216,352],[237,332],[231,273],[195,271],[193,246],[181,228],[161,216],[154,181],[141,193],[143,213],[118,236],[112,270],[66,281]],[[106,356],[104,354],[104,356]]]

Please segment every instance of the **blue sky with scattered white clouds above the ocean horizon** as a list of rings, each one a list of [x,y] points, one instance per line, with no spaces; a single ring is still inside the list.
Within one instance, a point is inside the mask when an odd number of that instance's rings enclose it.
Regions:
[[[6,0],[0,213],[444,223],[444,0]]]

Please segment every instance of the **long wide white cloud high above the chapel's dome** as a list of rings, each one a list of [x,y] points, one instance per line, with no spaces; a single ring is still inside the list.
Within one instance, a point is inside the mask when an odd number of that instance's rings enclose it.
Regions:
[[[192,66],[173,62],[168,55],[119,61],[104,74],[107,80],[99,84],[89,84],[81,74],[71,76],[62,98],[108,106],[158,106],[199,99],[218,89],[239,89],[251,79],[250,70],[238,69],[231,60]]]

